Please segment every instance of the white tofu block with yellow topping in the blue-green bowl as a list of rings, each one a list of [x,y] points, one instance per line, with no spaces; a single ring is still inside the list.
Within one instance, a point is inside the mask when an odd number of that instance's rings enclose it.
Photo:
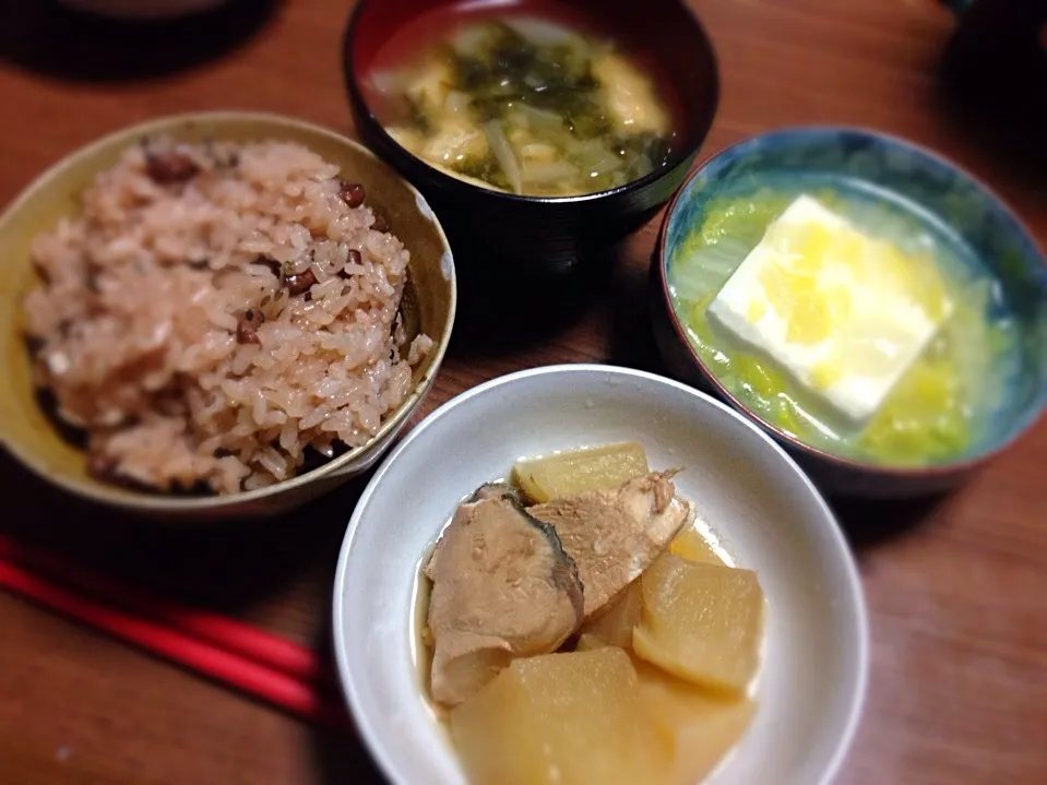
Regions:
[[[834,411],[867,421],[951,316],[936,262],[801,195],[709,307]]]

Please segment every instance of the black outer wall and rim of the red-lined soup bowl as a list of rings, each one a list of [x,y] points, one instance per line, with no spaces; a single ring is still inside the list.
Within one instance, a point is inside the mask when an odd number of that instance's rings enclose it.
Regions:
[[[712,43],[694,14],[678,0],[656,1],[689,21],[688,51],[674,57],[690,57],[693,71],[704,76],[682,79],[675,85],[687,118],[685,142],[669,163],[645,177],[611,190],[563,198],[480,188],[431,167],[393,140],[369,108],[354,61],[360,19],[379,0],[360,0],[354,8],[343,38],[342,66],[357,132],[423,193],[440,216],[460,277],[490,276],[487,260],[491,258],[513,275],[520,271],[556,275],[603,263],[612,255],[608,251],[650,221],[685,181],[716,112],[718,70]],[[698,100],[688,104],[686,91]],[[495,271],[493,276],[498,275]]]

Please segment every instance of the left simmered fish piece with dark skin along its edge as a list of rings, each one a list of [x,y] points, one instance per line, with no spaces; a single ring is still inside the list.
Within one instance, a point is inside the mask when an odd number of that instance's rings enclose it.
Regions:
[[[447,705],[463,702],[513,657],[556,651],[582,621],[574,562],[556,531],[507,486],[484,486],[459,507],[426,575],[431,691]]]

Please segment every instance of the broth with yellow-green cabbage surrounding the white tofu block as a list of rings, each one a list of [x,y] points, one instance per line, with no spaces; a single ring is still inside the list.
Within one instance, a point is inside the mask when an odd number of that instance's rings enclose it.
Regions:
[[[706,313],[768,226],[800,193],[902,253],[932,259],[953,305],[930,344],[861,424],[807,394],[773,358]],[[669,260],[668,282],[676,313],[716,379],[770,424],[833,454],[890,465],[954,460],[977,443],[1010,376],[1015,328],[994,278],[931,216],[860,183],[817,176],[769,180],[754,191],[710,200]]]

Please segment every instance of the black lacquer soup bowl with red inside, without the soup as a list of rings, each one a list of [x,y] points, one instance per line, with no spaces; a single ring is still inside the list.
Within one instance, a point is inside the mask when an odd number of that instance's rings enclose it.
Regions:
[[[415,157],[374,116],[361,80],[381,46],[402,25],[462,0],[361,0],[345,33],[343,67],[356,128],[364,141],[411,180],[440,216],[463,285],[484,276],[519,284],[531,272],[554,278],[598,260],[650,219],[683,181],[713,121],[718,78],[713,47],[679,0],[517,0],[537,14],[557,8],[591,12],[623,48],[657,67],[670,81],[682,115],[671,160],[612,190],[546,198],[503,193],[447,175]],[[516,287],[514,290],[521,290]],[[483,293],[477,293],[477,296]]]

